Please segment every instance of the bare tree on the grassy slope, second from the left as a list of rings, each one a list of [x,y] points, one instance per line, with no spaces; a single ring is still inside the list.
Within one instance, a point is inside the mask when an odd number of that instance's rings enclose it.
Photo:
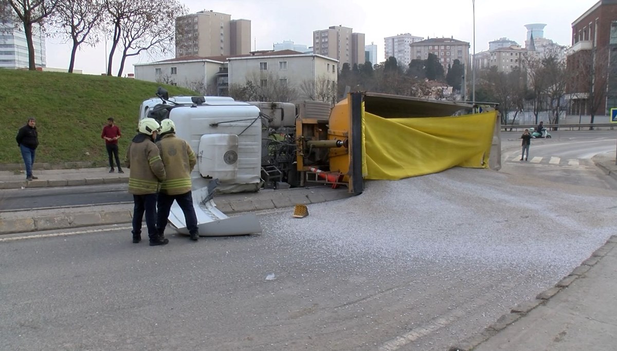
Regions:
[[[73,45],[68,73],[73,73],[78,47],[83,43],[90,46],[98,43],[99,38],[94,31],[101,24],[103,9],[102,0],[59,0],[54,22],[64,30],[64,35]]]

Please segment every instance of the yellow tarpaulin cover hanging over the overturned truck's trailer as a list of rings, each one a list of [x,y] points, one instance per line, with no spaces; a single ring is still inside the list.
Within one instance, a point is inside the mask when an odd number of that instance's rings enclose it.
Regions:
[[[382,118],[363,112],[362,173],[399,180],[455,166],[488,168],[497,112],[457,117]]]

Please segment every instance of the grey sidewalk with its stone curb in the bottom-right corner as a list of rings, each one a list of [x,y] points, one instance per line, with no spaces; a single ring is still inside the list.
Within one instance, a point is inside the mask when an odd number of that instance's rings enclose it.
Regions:
[[[450,351],[615,350],[617,235],[554,287]]]

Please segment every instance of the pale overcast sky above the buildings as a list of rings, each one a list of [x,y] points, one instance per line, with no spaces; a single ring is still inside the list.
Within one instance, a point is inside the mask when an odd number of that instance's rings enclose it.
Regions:
[[[129,0],[130,1],[130,0]],[[378,2],[368,0],[180,0],[194,13],[214,10],[230,14],[231,19],[251,20],[252,49],[272,49],[273,43],[292,40],[312,46],[314,30],[333,25],[353,28],[365,33],[365,44],[377,45],[378,62],[384,60],[384,38],[402,33],[415,36],[451,37],[471,43],[473,47],[473,15],[475,12],[476,52],[489,47],[489,41],[502,37],[524,46],[529,23],[545,23],[545,38],[558,44],[571,44],[572,22],[597,0],[411,0]],[[205,7],[204,7],[205,6]],[[475,8],[475,11],[474,11]],[[106,72],[106,51],[110,43],[101,41],[96,47],[83,45],[77,52],[75,69],[83,73]],[[67,68],[70,44],[62,38],[48,38],[47,65]],[[127,59],[124,75],[133,73],[133,64],[154,62],[173,57],[141,54]],[[117,73],[120,56],[114,58]]]

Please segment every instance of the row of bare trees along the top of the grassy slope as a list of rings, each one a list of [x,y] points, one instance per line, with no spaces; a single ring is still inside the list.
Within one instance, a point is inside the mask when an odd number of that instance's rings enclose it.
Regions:
[[[122,76],[126,58],[173,50],[175,19],[186,13],[177,0],[0,0],[0,23],[15,25],[25,33],[28,68],[36,70],[33,35],[40,28],[72,44],[70,73],[80,46],[96,46],[104,38],[112,38],[107,75],[112,75],[117,54],[117,75]]]

